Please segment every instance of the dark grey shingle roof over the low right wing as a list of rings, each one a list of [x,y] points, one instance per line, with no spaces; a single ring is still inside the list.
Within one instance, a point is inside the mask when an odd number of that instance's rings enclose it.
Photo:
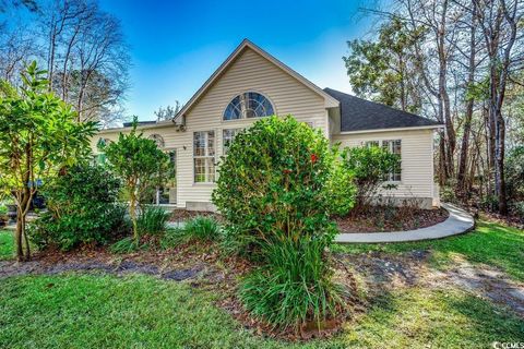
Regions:
[[[379,129],[416,128],[441,123],[410,112],[361,99],[340,91],[324,88],[341,103],[341,131],[365,131]]]

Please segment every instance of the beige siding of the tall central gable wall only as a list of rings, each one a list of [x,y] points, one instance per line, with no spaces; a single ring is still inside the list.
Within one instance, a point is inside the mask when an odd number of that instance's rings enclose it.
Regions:
[[[195,131],[215,131],[217,160],[223,154],[224,129],[247,128],[255,120],[223,121],[229,101],[238,94],[254,91],[266,96],[279,116],[293,115],[300,121],[313,122],[326,135],[327,112],[324,99],[264,57],[247,48],[226,72],[189,110],[187,132],[182,135],[187,149],[178,156],[178,202],[209,202],[214,184],[193,182],[192,136]]]

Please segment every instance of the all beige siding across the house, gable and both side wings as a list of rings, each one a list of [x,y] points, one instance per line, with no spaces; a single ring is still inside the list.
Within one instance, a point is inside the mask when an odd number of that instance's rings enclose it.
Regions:
[[[176,127],[169,122],[141,129],[145,136],[160,134],[166,149],[177,151],[178,207],[187,207],[188,203],[210,203],[215,188],[213,183],[193,181],[193,132],[215,132],[218,163],[223,155],[223,130],[247,128],[257,120],[222,119],[227,104],[238,94],[248,91],[265,95],[273,103],[277,115],[293,115],[299,121],[313,123],[333,144],[341,142],[344,146],[356,146],[372,140],[402,140],[402,183],[393,194],[401,197],[438,196],[433,185],[431,130],[340,134],[340,115],[332,109],[329,117],[323,97],[263,56],[246,48],[187,111],[184,132],[177,132]],[[96,143],[100,137],[115,141],[119,132],[129,132],[129,129],[100,132],[93,139],[94,152],[96,153]]]

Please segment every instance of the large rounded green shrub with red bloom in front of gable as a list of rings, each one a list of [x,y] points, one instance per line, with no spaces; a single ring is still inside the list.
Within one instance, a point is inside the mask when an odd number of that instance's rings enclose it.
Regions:
[[[312,236],[331,241],[335,166],[336,154],[320,131],[290,116],[257,121],[236,135],[218,169],[213,203],[225,218],[225,236],[250,244]]]

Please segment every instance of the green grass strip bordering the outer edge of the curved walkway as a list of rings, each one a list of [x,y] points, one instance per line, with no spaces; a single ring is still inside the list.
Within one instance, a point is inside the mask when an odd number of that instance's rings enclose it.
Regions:
[[[431,250],[430,263],[438,268],[453,265],[456,257],[474,264],[496,266],[517,281],[524,281],[524,231],[495,222],[479,221],[477,228],[464,236],[420,242],[389,244],[336,244],[336,252],[404,253]]]

